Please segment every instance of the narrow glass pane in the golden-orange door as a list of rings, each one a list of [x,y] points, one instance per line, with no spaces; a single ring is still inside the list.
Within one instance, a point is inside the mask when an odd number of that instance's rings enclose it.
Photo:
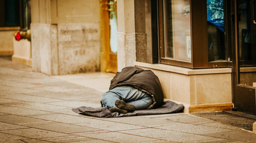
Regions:
[[[109,12],[109,26],[110,26],[110,51],[117,53],[117,19],[116,19],[116,3],[115,0],[110,0],[109,8],[113,11]]]

